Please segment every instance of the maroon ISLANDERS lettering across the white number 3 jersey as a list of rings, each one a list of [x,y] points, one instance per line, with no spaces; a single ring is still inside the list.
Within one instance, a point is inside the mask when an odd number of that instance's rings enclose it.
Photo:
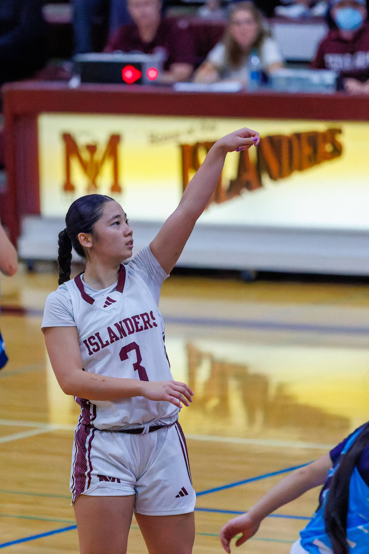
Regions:
[[[94,352],[99,352],[108,345],[113,344],[115,341],[139,333],[141,331],[148,331],[158,327],[155,321],[153,311],[143,312],[143,314],[136,314],[131,317],[125,317],[125,319],[116,321],[113,325],[109,325],[105,330],[95,331],[93,335],[86,338],[83,343],[88,350],[88,355],[92,356]]]

